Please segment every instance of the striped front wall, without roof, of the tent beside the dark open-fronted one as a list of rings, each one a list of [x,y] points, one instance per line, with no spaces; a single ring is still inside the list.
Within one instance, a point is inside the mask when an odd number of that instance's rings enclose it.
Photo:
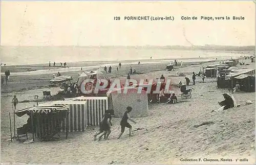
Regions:
[[[68,132],[82,132],[87,127],[86,106],[84,104],[70,104],[67,125]],[[62,132],[66,132],[66,120],[62,125]]]

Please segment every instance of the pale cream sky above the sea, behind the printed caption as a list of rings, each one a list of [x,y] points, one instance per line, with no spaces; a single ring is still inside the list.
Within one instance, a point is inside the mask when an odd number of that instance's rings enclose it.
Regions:
[[[114,20],[120,16],[120,20]],[[124,20],[173,16],[174,20]],[[198,20],[181,20],[197,16]],[[230,20],[200,20],[201,16]],[[232,20],[243,16],[245,20]],[[255,45],[255,4],[233,2],[1,2],[1,45]]]

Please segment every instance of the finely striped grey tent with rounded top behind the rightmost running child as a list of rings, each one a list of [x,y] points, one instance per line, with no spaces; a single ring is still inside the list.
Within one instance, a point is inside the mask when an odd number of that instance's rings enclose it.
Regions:
[[[120,88],[109,91],[110,108],[115,117],[122,117],[126,107],[133,108],[131,117],[143,117],[148,113],[147,93],[138,88]]]

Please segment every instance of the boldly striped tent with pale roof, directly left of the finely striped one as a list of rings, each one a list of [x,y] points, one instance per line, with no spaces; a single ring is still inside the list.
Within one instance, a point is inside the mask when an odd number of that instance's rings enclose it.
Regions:
[[[108,97],[77,97],[66,99],[68,101],[86,101],[86,115],[87,125],[96,126],[100,124],[100,121],[105,113],[105,110],[109,109]]]

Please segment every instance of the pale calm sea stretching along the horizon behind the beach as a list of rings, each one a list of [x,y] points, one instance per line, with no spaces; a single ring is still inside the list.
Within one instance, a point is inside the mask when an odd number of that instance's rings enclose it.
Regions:
[[[57,66],[67,62],[69,68],[44,69],[30,72],[12,73],[12,75],[43,74],[51,72],[76,72],[81,67],[88,69],[122,64],[170,62],[174,59],[183,62],[209,61],[216,58],[240,57],[238,53],[217,51],[170,50],[162,48],[136,47],[102,47],[102,46],[1,46],[1,63],[3,66],[49,66],[55,62]],[[1,75],[3,74],[2,73]]]

